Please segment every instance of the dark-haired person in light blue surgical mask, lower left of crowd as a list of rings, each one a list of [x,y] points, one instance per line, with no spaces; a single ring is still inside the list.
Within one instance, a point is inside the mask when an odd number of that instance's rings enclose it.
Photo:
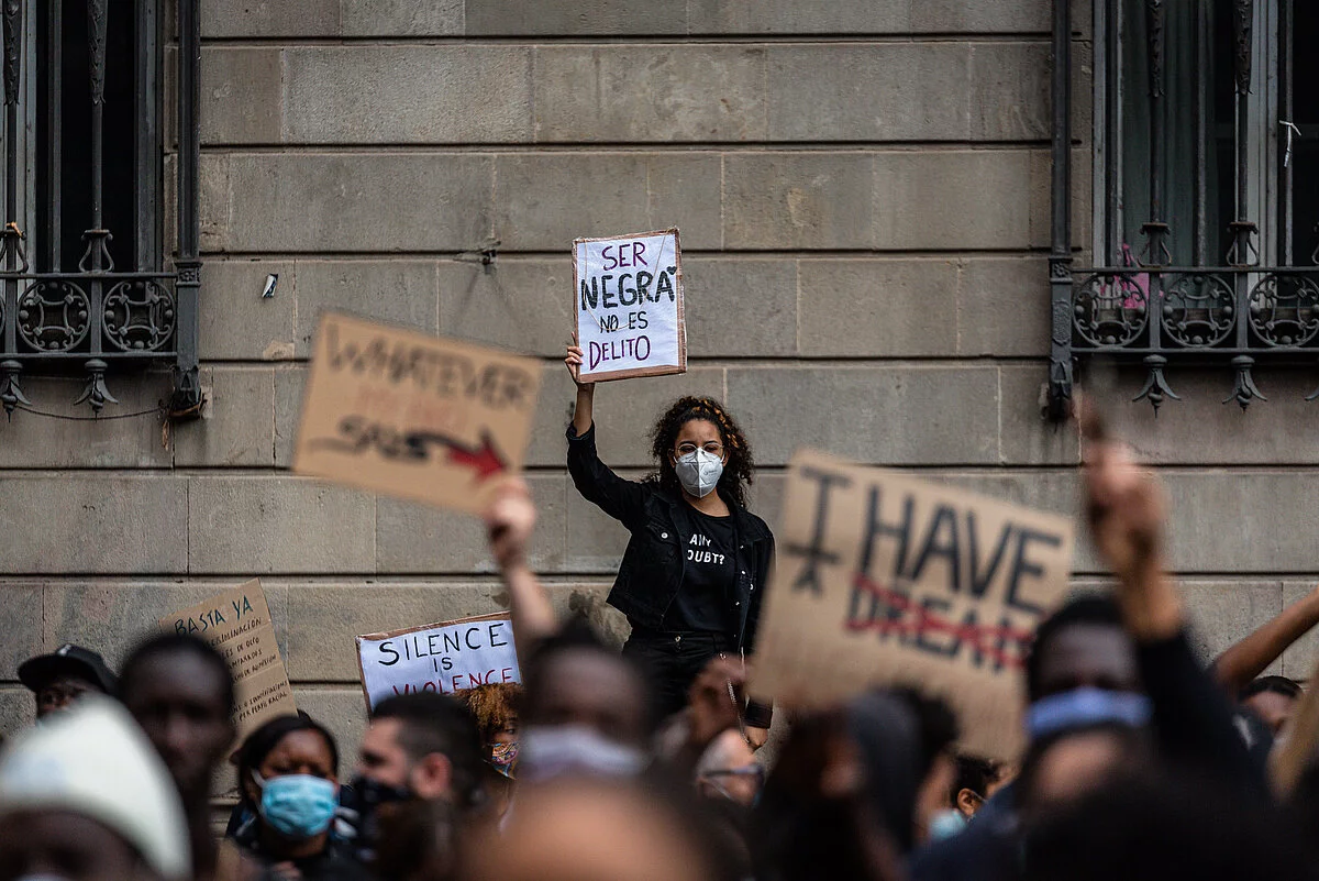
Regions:
[[[251,819],[233,834],[266,877],[355,881],[364,869],[330,836],[339,808],[339,749],[309,716],[276,716],[239,752],[239,798]]]

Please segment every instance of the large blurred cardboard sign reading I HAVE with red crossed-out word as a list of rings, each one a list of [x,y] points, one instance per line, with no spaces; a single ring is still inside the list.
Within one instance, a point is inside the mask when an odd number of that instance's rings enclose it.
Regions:
[[[1068,518],[805,451],[793,458],[752,694],[872,684],[948,700],[967,750],[1017,758],[1022,661],[1071,571]]]

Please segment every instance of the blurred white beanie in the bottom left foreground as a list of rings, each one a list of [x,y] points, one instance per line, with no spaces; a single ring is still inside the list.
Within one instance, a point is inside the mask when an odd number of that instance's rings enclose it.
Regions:
[[[133,717],[108,698],[88,695],[51,714],[0,754],[0,818],[30,810],[100,822],[165,878],[191,872],[174,781]]]

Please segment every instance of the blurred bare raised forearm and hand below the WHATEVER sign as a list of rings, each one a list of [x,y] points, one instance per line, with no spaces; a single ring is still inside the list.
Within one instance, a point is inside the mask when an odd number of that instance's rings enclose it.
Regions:
[[[536,529],[536,505],[521,479],[509,480],[485,514],[491,554],[508,588],[517,657],[530,657],[533,646],[558,630],[550,597],[526,562],[526,546]]]

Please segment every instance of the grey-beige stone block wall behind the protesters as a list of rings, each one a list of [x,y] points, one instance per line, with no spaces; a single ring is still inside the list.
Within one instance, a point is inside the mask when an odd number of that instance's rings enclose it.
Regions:
[[[603,592],[625,533],[563,470],[576,236],[674,224],[687,251],[690,372],[599,392],[601,452],[625,473],[644,473],[660,409],[706,392],[748,427],[772,522],[799,444],[1075,512],[1075,431],[1041,418],[1049,7],[204,0],[210,405],[169,447],[149,419],[0,422],[0,731],[30,714],[22,658],[77,641],[117,663],[158,615],[257,575],[299,706],[351,754],[355,633],[501,607],[474,520],[288,472],[331,307],[543,357],[534,563],[563,609],[621,638]],[[1088,3],[1074,20],[1088,241]],[[470,252],[489,239],[485,272]],[[1178,381],[1184,401],[1157,422],[1112,398],[1167,481],[1173,563],[1211,654],[1319,570],[1314,380],[1261,375],[1274,393],[1245,415],[1219,404],[1223,377]],[[165,388],[115,384],[125,411]],[[1089,549],[1076,579],[1103,579]],[[1314,653],[1275,670],[1307,675]]]

